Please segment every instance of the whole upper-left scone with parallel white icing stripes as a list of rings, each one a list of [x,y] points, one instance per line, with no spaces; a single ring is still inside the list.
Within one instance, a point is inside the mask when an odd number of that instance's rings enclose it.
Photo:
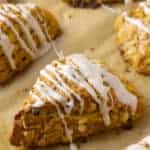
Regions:
[[[0,5],[0,83],[44,55],[59,34],[48,10],[35,4]]]

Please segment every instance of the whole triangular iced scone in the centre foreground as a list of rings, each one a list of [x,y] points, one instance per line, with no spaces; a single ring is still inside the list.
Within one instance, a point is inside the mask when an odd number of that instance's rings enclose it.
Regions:
[[[74,54],[41,70],[25,105],[14,117],[11,143],[71,143],[132,125],[141,114],[140,97],[130,83],[100,63]]]

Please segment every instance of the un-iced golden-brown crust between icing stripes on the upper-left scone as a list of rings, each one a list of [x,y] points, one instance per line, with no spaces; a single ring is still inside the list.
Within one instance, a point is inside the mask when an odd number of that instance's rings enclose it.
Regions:
[[[20,4],[24,7],[24,4]],[[4,6],[7,6],[7,4],[0,5],[0,10],[4,9]],[[17,5],[12,5],[13,7],[18,7]],[[39,49],[38,53],[41,53],[42,51],[42,44],[44,43],[40,41],[38,33],[35,32],[34,27],[29,24],[29,22],[26,20],[26,18],[21,14],[21,10],[15,10],[13,7],[9,8],[12,12],[12,15],[15,15],[24,25],[26,28],[30,31],[30,36],[33,39],[36,48]],[[50,42],[51,39],[55,39],[57,36],[60,35],[61,29],[59,27],[59,24],[55,17],[51,14],[51,12],[40,8],[39,6],[35,7],[28,7],[27,9],[30,10],[31,15],[36,18],[38,24],[40,25],[40,28],[42,29],[44,36],[46,37],[47,42]],[[4,15],[14,26],[14,29],[18,33],[19,37],[25,42],[27,47],[29,48],[29,51],[31,51],[32,47],[31,44],[29,44],[29,39],[23,29],[23,27],[17,22],[17,19],[13,18],[12,16],[6,14]],[[0,46],[0,64],[1,64],[1,70],[0,70],[0,84],[6,83],[9,79],[12,78],[12,76],[18,72],[23,71],[27,66],[29,66],[33,58],[31,55],[25,50],[25,48],[21,45],[20,41],[16,37],[15,32],[13,32],[12,28],[10,28],[5,21],[0,21],[0,29],[1,31],[6,34],[11,42],[11,44],[14,45],[14,49],[12,50],[12,59],[14,61],[14,64],[16,68],[12,69],[12,66],[9,62],[8,57],[6,57],[4,53],[4,49],[2,46]],[[48,32],[47,32],[48,31]],[[51,38],[48,38],[51,37]],[[37,52],[36,52],[37,53]],[[38,54],[36,54],[38,56]],[[39,56],[38,56],[39,57]]]

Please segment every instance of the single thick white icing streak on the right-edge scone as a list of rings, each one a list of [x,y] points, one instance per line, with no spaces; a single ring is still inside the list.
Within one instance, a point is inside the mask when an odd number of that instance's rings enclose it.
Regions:
[[[139,20],[139,19],[136,19],[136,18],[134,18],[134,17],[130,17],[130,16],[127,14],[127,12],[124,12],[124,13],[123,13],[123,16],[125,17],[125,20],[126,20],[128,23],[130,23],[130,24],[132,24],[132,25],[138,27],[140,30],[143,30],[143,31],[145,31],[146,33],[149,33],[149,34],[150,34],[150,26],[145,25],[145,24],[144,24],[141,20]]]

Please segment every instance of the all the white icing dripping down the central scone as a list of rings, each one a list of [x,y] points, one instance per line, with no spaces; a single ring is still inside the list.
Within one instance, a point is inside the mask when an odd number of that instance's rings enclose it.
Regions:
[[[72,143],[72,132],[64,119],[64,112],[61,111],[58,103],[64,107],[65,113],[71,113],[74,107],[74,101],[80,102],[81,110],[84,110],[84,99],[78,93],[73,91],[69,85],[64,81],[62,75],[68,80],[74,82],[79,87],[84,88],[99,105],[100,113],[103,117],[105,125],[110,125],[109,112],[113,106],[108,106],[108,101],[112,97],[108,97],[109,90],[112,88],[118,97],[118,100],[126,105],[129,105],[132,112],[135,113],[137,106],[136,96],[129,93],[123,86],[121,81],[113,74],[105,70],[101,65],[92,63],[88,58],[83,55],[75,54],[66,58],[66,63],[57,62],[57,67],[47,65],[45,69],[41,70],[40,76],[50,81],[54,86],[48,86],[48,83],[38,79],[34,85],[35,91],[39,93],[34,94],[30,92],[30,96],[34,99],[32,107],[41,107],[45,103],[42,98],[51,102],[57,109],[58,115],[61,118],[66,136],[68,137],[71,145],[71,150],[76,150],[77,147]],[[104,84],[107,82],[108,85]],[[57,89],[61,90],[66,96],[61,95]],[[73,97],[74,96],[74,97]],[[69,101],[67,99],[69,98]]]

